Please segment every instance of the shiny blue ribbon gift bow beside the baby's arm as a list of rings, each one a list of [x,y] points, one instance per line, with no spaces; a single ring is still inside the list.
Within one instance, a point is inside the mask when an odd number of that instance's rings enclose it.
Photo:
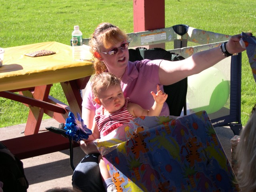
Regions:
[[[66,135],[70,136],[73,141],[81,141],[83,139],[88,139],[89,135],[92,134],[92,131],[84,125],[84,120],[81,118],[80,114],[77,113],[76,116],[69,112],[68,118],[66,118],[66,124],[64,129],[66,130]],[[82,128],[78,126],[76,120],[80,121],[82,124]]]

